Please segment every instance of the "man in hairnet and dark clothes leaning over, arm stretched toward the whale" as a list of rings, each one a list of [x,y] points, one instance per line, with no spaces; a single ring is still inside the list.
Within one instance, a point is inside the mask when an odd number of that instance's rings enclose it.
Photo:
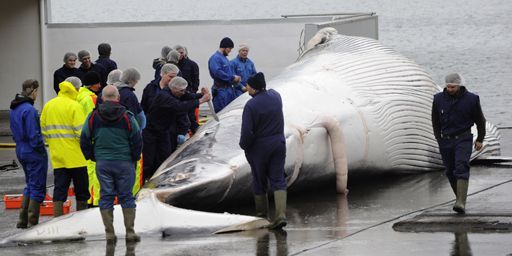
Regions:
[[[151,178],[176,149],[180,119],[188,120],[188,111],[210,100],[205,88],[201,89],[201,94],[188,93],[186,88],[187,81],[175,77],[157,94],[150,106],[147,127],[143,131],[144,180]]]

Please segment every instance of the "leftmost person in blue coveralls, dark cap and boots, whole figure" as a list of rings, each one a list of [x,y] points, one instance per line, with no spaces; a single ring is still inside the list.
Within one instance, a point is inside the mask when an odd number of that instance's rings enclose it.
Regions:
[[[39,206],[46,195],[48,155],[39,125],[39,114],[34,108],[39,83],[23,82],[21,94],[11,102],[9,113],[12,137],[16,142],[16,157],[25,172],[26,187],[17,228],[28,228],[39,223]]]

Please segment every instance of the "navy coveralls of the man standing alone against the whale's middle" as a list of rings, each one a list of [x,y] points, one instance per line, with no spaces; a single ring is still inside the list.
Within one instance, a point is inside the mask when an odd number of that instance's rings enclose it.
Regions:
[[[260,91],[244,107],[240,147],[251,166],[255,195],[286,190],[283,104],[274,90]]]

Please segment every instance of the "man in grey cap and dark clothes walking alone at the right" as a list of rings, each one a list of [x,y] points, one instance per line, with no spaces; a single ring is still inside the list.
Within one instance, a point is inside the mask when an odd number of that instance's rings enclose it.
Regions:
[[[432,127],[446,176],[457,198],[453,210],[465,213],[473,144],[471,127],[476,124],[478,136],[474,148],[480,150],[485,137],[485,117],[480,98],[463,86],[461,75],[449,74],[445,81],[445,89],[434,96],[432,103]]]

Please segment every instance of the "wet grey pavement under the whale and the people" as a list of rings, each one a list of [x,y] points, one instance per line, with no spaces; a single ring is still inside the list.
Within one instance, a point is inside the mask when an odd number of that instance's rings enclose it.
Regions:
[[[512,155],[512,130],[502,131],[502,154]],[[3,137],[0,142],[8,142]],[[15,159],[13,148],[0,149],[0,163]],[[512,216],[511,166],[473,166],[467,212],[499,212]],[[454,199],[442,172],[383,175],[349,179],[348,196],[331,188],[289,195],[284,232],[256,230],[209,236],[146,235],[135,246],[121,239],[115,247],[105,241],[48,243],[0,248],[1,255],[510,255],[512,233],[397,232],[393,224],[425,211],[445,211]],[[20,193],[23,172],[0,172],[0,192]],[[48,184],[53,184],[49,175]],[[52,189],[49,189],[51,192]],[[251,214],[251,202],[229,209]],[[440,210],[439,210],[440,209]],[[444,209],[444,210],[443,210]],[[0,204],[0,240],[19,232],[18,210]],[[50,217],[42,217],[45,221]],[[448,229],[451,230],[451,229]],[[425,231],[425,230],[423,230]],[[455,231],[455,229],[454,229]],[[460,229],[458,230],[460,231]]]

